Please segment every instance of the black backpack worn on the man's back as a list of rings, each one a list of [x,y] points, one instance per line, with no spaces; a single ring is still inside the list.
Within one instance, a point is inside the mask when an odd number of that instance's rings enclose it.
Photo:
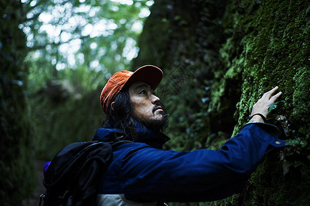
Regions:
[[[75,142],[52,159],[45,172],[43,206],[94,205],[101,176],[112,162],[112,145],[102,141]]]

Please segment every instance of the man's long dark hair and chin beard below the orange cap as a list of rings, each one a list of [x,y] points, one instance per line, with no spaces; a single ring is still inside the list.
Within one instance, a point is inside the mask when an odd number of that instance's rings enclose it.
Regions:
[[[165,106],[163,106],[162,103],[160,103],[160,105],[162,106],[163,111],[165,111]],[[134,141],[137,135],[137,123],[138,120],[132,115],[132,102],[130,101],[128,89],[122,90],[118,93],[118,95],[116,95],[113,109],[111,108],[111,106],[107,108],[107,117],[103,119],[102,126],[119,128],[123,130],[126,138],[130,137],[130,139]],[[163,132],[163,128],[165,128],[167,125],[168,120],[161,128],[159,128],[159,130]]]

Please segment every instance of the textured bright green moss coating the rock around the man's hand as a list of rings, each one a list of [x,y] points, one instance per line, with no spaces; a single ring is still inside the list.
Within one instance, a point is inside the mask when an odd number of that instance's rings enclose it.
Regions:
[[[256,10],[251,10],[250,3],[247,4],[249,1],[242,2],[247,8],[247,15],[238,13],[234,15],[238,16],[237,19],[240,18],[235,30],[243,30],[244,36],[241,40],[227,41],[228,47],[233,47],[231,44],[234,43],[238,43],[238,47],[240,47],[241,43],[244,51],[236,57],[237,60],[233,59],[234,61],[231,60],[227,65],[234,68],[236,62],[242,65],[239,61],[243,61],[245,64],[241,71],[242,95],[235,113],[235,116],[238,117],[238,124],[234,129],[234,135],[238,133],[240,126],[245,124],[251,112],[251,106],[262,93],[278,85],[280,91],[283,92],[282,99],[285,100],[285,105],[282,105],[282,108],[278,110],[278,114],[289,119],[288,130],[294,131],[295,138],[299,136],[300,141],[302,139],[307,141],[309,128],[305,128],[305,126],[309,122],[309,117],[306,115],[309,113],[309,69],[304,67],[307,64],[305,52],[307,48],[304,43],[309,41],[306,18],[306,5],[309,3],[306,1],[294,3],[265,1]],[[230,76],[231,73],[227,73],[226,77]],[[245,110],[244,108],[249,109]],[[282,137],[288,138],[285,135]],[[300,159],[296,155],[307,152],[304,147],[302,144],[294,145],[289,150],[285,149],[284,154],[289,159]],[[300,161],[304,163],[304,166],[309,164],[307,159],[301,158]],[[276,175],[268,170],[275,166],[275,162],[277,162],[276,159],[267,159],[260,165],[257,172],[251,177],[251,187],[247,187],[238,198],[238,204],[285,205],[298,200],[298,193],[292,192],[288,186],[291,186],[293,181],[277,181]],[[300,170],[308,171],[306,173],[309,174],[307,166],[303,167],[296,161],[291,163],[291,167],[298,167]],[[290,172],[294,174],[296,171]],[[282,174],[279,173],[278,176],[282,176]],[[278,184],[269,184],[274,182]],[[297,182],[298,180],[294,183]],[[298,184],[300,187],[309,187],[309,182]],[[244,202],[242,197],[247,197],[247,201]]]

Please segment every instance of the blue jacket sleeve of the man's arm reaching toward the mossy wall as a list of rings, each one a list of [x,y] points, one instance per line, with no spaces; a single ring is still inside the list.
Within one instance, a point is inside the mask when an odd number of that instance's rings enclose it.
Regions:
[[[125,197],[132,201],[214,201],[242,190],[267,148],[285,146],[268,124],[246,124],[220,150],[143,148],[123,157]]]

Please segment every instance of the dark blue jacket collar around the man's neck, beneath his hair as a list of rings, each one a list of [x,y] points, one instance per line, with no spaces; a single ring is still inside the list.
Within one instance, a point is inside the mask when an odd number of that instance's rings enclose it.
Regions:
[[[99,141],[115,141],[116,137],[124,136],[124,131],[118,128],[113,128],[113,123],[108,122],[105,128],[99,128],[96,131],[92,140],[99,140]],[[136,123],[136,133],[137,137],[134,141],[142,142],[145,144],[149,144],[154,148],[163,148],[163,144],[170,140],[170,138],[156,130],[149,129],[143,126],[141,123]]]

